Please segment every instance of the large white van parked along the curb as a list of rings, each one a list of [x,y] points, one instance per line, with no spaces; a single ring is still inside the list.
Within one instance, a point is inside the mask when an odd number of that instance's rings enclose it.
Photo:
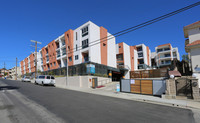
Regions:
[[[55,85],[55,83],[55,78],[50,75],[40,75],[35,80],[35,84],[41,85]]]

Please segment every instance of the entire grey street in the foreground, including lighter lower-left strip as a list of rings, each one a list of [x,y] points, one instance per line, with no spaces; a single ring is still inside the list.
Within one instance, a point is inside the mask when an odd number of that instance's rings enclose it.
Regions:
[[[0,110],[5,111],[6,109],[8,118],[14,123],[194,122],[193,112],[189,109],[123,100],[13,80],[0,79],[0,99],[4,103],[10,103],[5,107],[0,105]],[[2,117],[3,114],[0,113],[0,118]]]

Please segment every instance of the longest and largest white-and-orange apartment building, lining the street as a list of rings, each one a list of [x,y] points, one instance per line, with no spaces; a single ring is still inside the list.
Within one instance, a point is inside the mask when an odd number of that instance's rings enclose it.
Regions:
[[[75,30],[69,29],[40,49],[37,54],[38,69],[48,71],[65,68],[67,64],[71,67],[92,62],[103,65],[96,68],[104,68],[101,74],[112,75],[113,71],[120,72],[115,51],[115,37],[106,28],[88,21]],[[35,72],[33,61],[34,54],[31,54],[20,62],[22,74]]]

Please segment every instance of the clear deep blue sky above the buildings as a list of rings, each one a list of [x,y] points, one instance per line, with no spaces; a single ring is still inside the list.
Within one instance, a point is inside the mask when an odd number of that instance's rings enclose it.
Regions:
[[[198,0],[0,0],[0,68],[10,69],[34,48],[42,48],[69,29],[87,21],[114,34]],[[183,27],[200,20],[200,6],[116,38],[116,43],[145,44],[155,51],[161,44],[186,54]]]

